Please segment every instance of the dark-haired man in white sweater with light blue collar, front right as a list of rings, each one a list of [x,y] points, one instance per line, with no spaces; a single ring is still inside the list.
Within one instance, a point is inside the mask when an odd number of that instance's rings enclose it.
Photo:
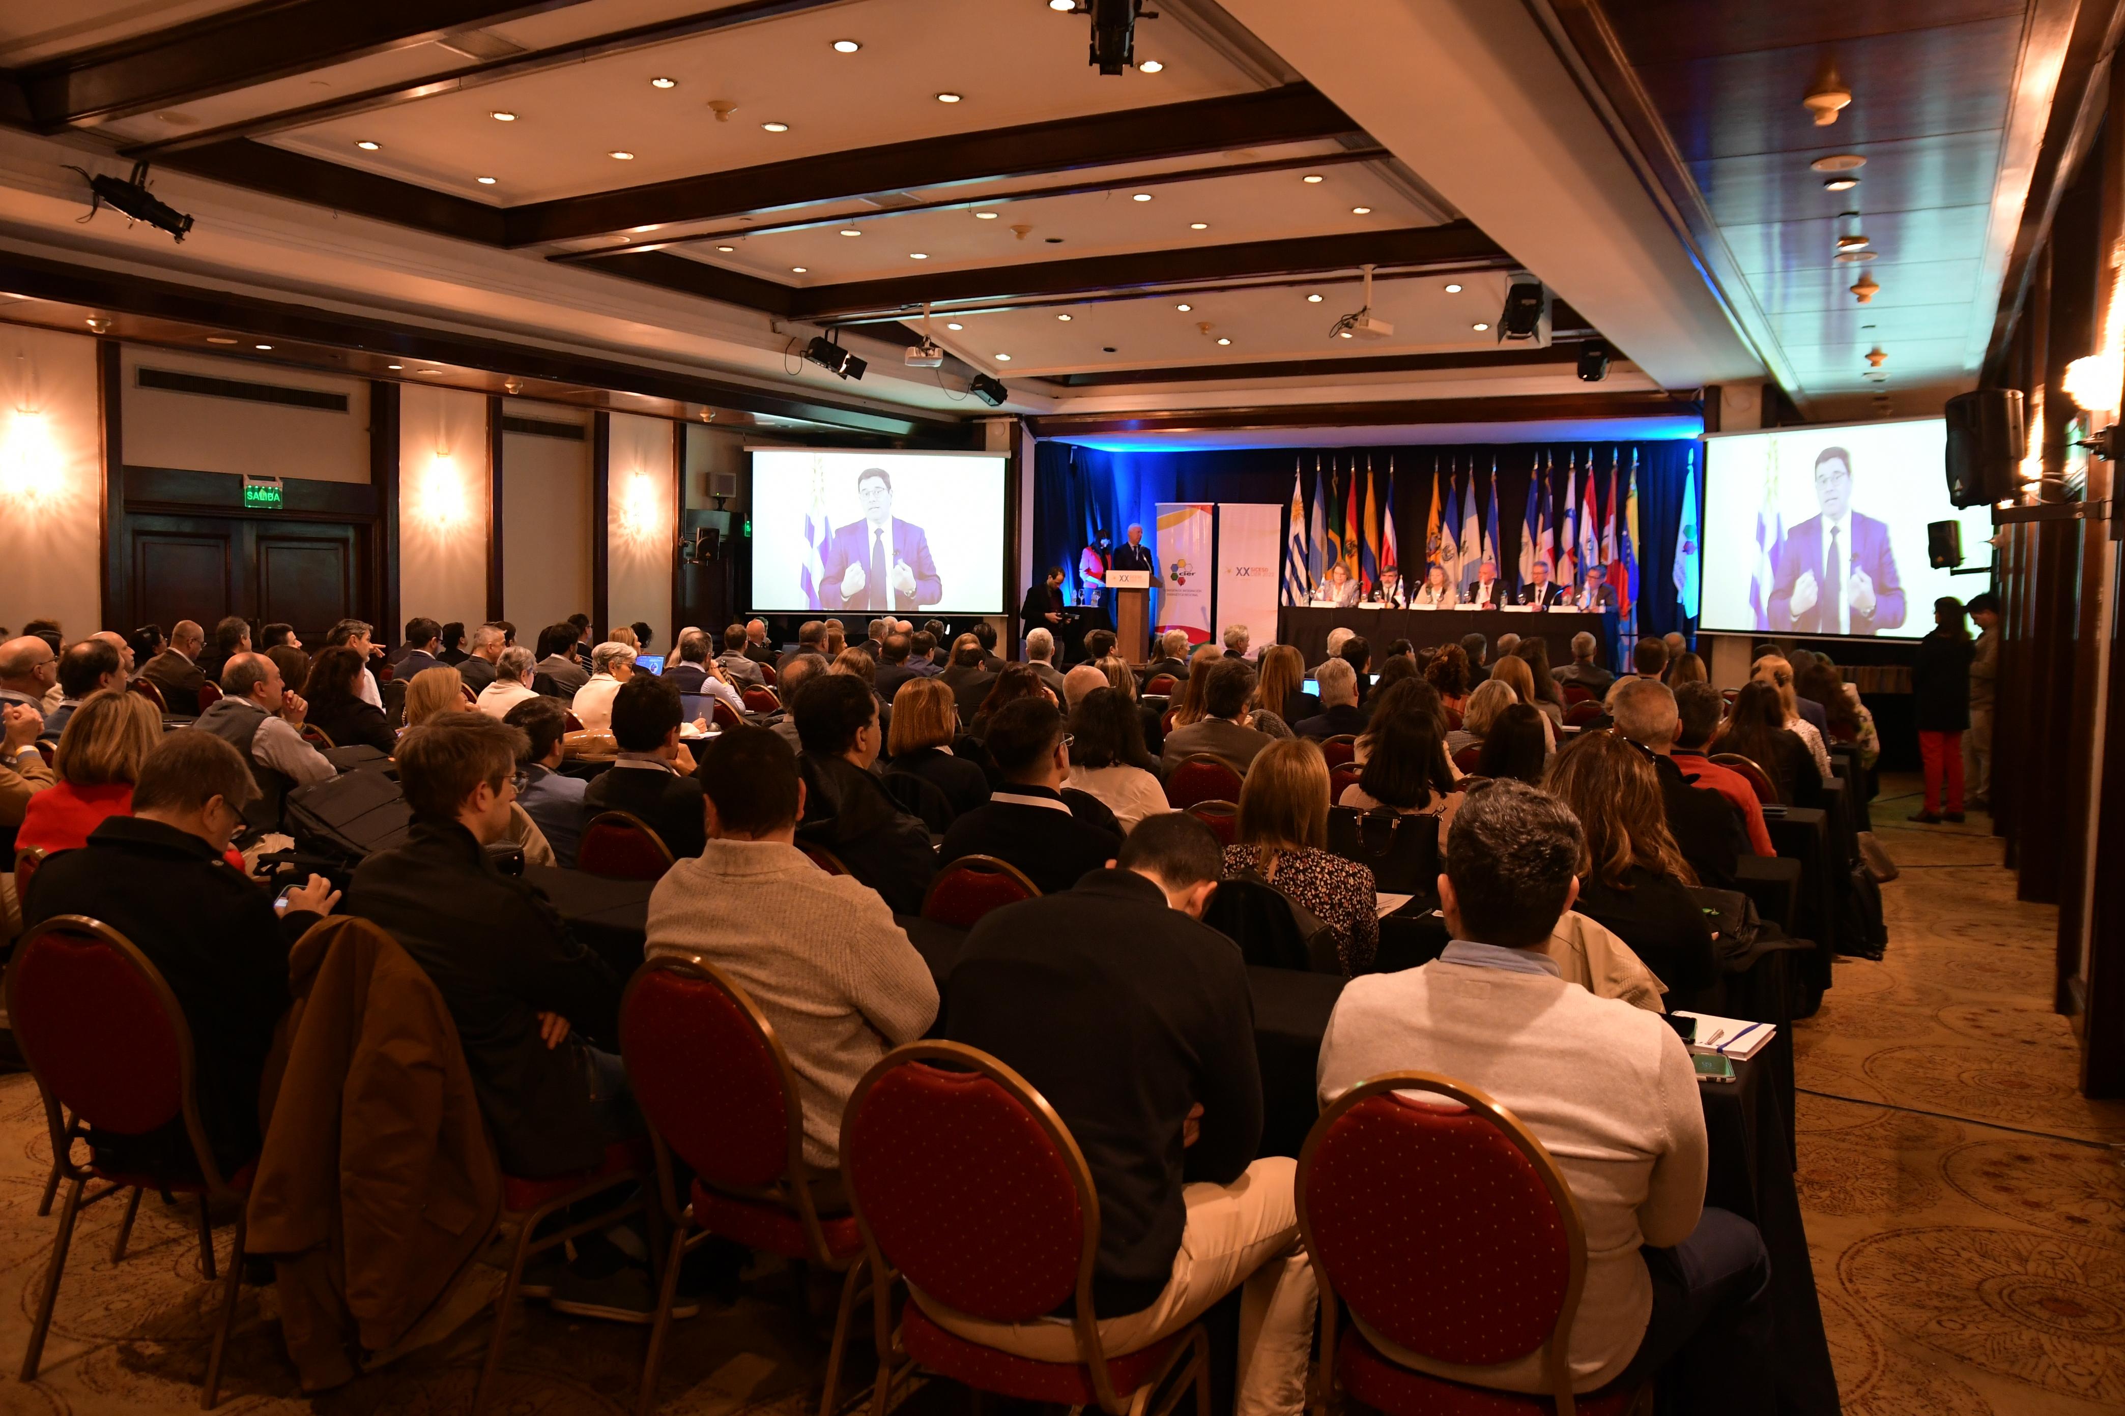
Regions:
[[[1402,1070],[1488,1093],[1549,1149],[1585,1225],[1572,1391],[1664,1376],[1677,1410],[1772,1412],[1770,1257],[1749,1221],[1704,1206],[1689,1051],[1645,1008],[1564,983],[1543,953],[1583,849],[1558,798],[1517,781],[1468,792],[1439,896],[1451,943],[1422,968],[1352,979],[1322,1038],[1320,1100]],[[1470,1214],[1481,1202],[1464,1197]],[[1494,1384],[1547,1391],[1541,1354]]]

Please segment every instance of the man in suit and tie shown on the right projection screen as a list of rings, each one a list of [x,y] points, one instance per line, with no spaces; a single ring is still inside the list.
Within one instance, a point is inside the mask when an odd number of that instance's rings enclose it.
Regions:
[[[1817,516],[1785,533],[1770,588],[1774,635],[1878,635],[1904,624],[1889,529],[1853,512],[1853,459],[1815,454]]]

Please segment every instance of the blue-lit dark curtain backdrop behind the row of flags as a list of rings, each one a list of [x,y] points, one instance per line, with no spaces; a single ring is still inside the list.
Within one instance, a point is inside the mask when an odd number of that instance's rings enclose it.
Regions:
[[[1284,541],[1290,543],[1292,471],[1305,488],[1305,510],[1311,516],[1315,486],[1326,486],[1330,512],[1349,497],[1352,469],[1364,478],[1371,467],[1381,493],[1388,469],[1394,469],[1394,535],[1400,548],[1400,571],[1411,586],[1424,580],[1426,531],[1432,510],[1432,469],[1439,471],[1439,497],[1451,486],[1473,486],[1481,507],[1483,529],[1498,552],[1498,580],[1519,588],[1519,541],[1528,510],[1528,482],[1536,469],[1549,480],[1549,522],[1558,529],[1562,554],[1562,518],[1566,484],[1572,465],[1579,467],[1579,495],[1585,497],[1585,469],[1596,469],[1600,488],[1600,520],[1606,524],[1611,486],[1626,486],[1632,459],[1638,467],[1638,584],[1632,599],[1638,607],[1638,633],[1694,633],[1683,618],[1674,588],[1674,546],[1683,516],[1685,480],[1696,480],[1696,505],[1704,505],[1704,454],[1696,439],[1670,442],[1596,442],[1596,444],[1456,444],[1417,448],[1216,448],[1203,452],[1105,452],[1075,444],[1039,444],[1033,480],[1033,565],[1026,577],[1039,577],[1052,565],[1065,569],[1065,590],[1075,603],[1077,554],[1094,524],[1105,526],[1116,541],[1130,522],[1141,522],[1145,541],[1156,539],[1160,501],[1260,501],[1286,507]],[[1492,529],[1492,467],[1496,467],[1496,505],[1500,524]],[[1626,476],[1613,476],[1617,469]],[[1318,476],[1315,476],[1318,471]],[[1360,480],[1360,501],[1364,482]],[[1456,503],[1462,505],[1462,503]],[[1458,516],[1458,512],[1456,512]],[[1328,516],[1330,524],[1337,516]],[[1617,526],[1621,529],[1621,507]],[[1460,533],[1460,524],[1456,524]]]

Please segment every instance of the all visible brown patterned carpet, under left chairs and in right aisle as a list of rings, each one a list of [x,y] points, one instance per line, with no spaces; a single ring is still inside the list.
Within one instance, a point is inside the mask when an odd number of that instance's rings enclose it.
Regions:
[[[1889,788],[1896,790],[1896,788]],[[2076,1042],[2048,1011],[2055,911],[2014,900],[1983,819],[1904,826],[1876,802],[1904,877],[1883,887],[1887,962],[1842,962],[1796,1036],[1800,1195],[1844,1410],[1853,1416],[2093,1416],[2125,1408],[2125,1104],[2074,1089]],[[1889,822],[1896,822],[1893,826]],[[51,1219],[51,1163],[28,1076],[0,1078],[0,1416],[196,1410],[210,1289],[189,1210],[140,1206],[110,1263],[117,1204],[83,1216],[45,1371],[13,1380]],[[227,1246],[227,1229],[217,1238]],[[317,1416],[461,1416],[489,1325],[304,1401],[272,1289],[244,1289],[223,1408]],[[623,1416],[640,1329],[531,1303],[495,1416]],[[735,1306],[676,1329],[659,1388],[672,1416],[816,1410],[824,1323],[763,1265]],[[931,1386],[914,1403],[935,1408]],[[956,1401],[946,1405],[956,1410]]]

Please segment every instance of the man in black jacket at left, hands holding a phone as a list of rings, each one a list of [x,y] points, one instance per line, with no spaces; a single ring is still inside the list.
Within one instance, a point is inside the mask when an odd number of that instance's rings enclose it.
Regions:
[[[287,951],[338,902],[312,875],[274,917],[272,896],[223,862],[242,809],[257,796],[244,754],[212,732],[168,732],[140,762],[132,815],[108,817],[79,851],[60,851],[30,879],[23,919],[102,919],[140,947],[191,1025],[200,1119],[221,1174],[259,1153],[259,1076],[287,1013]],[[155,1170],[189,1146],[98,1132],[110,1163]],[[168,1144],[168,1142],[174,1142]]]

